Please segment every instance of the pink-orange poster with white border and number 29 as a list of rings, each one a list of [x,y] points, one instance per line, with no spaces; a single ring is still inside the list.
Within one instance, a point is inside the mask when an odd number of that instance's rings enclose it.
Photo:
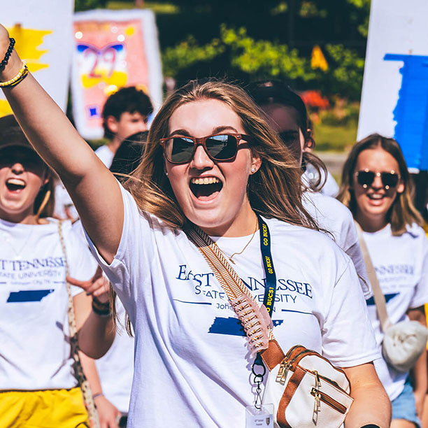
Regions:
[[[75,14],[71,90],[73,116],[84,138],[103,136],[101,112],[120,87],[144,90],[162,104],[162,66],[151,10],[90,10]]]

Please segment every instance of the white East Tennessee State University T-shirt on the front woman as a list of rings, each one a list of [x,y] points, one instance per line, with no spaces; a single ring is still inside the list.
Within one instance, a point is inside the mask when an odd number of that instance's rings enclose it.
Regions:
[[[124,227],[112,264],[91,245],[136,333],[128,427],[243,427],[245,406],[255,399],[254,359],[222,287],[183,231],[141,215],[123,189],[122,196]],[[277,276],[273,332],[283,350],[300,343],[342,367],[378,358],[349,257],[317,231],[266,222]],[[231,255],[249,238],[222,237],[217,244]],[[234,261],[262,302],[258,233]]]

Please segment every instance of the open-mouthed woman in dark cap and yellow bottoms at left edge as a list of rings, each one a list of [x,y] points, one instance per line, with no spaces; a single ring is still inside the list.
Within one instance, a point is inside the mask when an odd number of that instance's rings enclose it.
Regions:
[[[59,222],[50,217],[52,192],[48,166],[15,118],[1,117],[1,428],[89,427],[69,343],[66,262],[80,280],[91,278],[97,265],[69,221],[61,224],[62,247]],[[71,297],[79,328],[88,319],[90,298],[73,286]],[[82,365],[87,375],[94,370],[84,355]]]

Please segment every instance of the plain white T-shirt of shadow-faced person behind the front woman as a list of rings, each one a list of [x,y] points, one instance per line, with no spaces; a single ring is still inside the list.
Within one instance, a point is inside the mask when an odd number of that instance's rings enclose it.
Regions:
[[[337,245],[352,259],[355,270],[360,277],[359,282],[364,297],[369,299],[373,292],[369,286],[366,265],[359,248],[358,234],[352,213],[337,199],[320,192],[311,192],[311,190],[304,192],[302,202],[308,213],[318,222],[318,225],[329,231]]]

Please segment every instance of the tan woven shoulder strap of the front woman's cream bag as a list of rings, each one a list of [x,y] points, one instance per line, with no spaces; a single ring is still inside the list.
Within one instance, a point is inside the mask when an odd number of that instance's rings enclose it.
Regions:
[[[243,280],[241,280],[229,262],[227,262],[220,248],[203,230],[193,225],[192,227],[187,227],[185,233],[204,256],[204,259],[206,259],[208,266],[210,266],[215,278],[217,278],[224,292],[227,294],[229,301],[234,301],[245,294],[255,302],[248,288],[245,287]],[[257,305],[257,302],[255,304]],[[235,309],[234,305],[231,306]],[[268,327],[268,335],[268,348],[262,350],[260,355],[266,366],[271,370],[284,359],[285,354],[273,337],[273,331],[270,327]]]

